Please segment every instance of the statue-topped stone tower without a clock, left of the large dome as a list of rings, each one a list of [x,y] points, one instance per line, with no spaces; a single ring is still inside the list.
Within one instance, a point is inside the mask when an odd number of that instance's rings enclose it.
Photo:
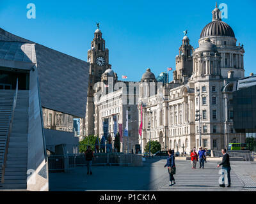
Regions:
[[[173,80],[184,82],[184,77],[191,77],[193,71],[193,47],[189,44],[188,36],[182,38],[179,55],[176,56],[176,70],[173,71]]]

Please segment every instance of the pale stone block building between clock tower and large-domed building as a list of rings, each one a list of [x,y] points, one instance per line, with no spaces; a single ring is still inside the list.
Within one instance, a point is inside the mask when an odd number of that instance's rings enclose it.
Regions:
[[[112,70],[111,70],[112,71]],[[107,75],[107,77],[106,77]],[[113,84],[113,85],[111,85]],[[102,75],[102,84],[100,84],[100,89],[102,93],[97,93],[94,95],[95,101],[95,135],[103,135],[102,124],[104,120],[108,120],[109,128],[108,132],[111,134],[114,140],[114,122],[113,115],[116,115],[117,128],[118,124],[122,124],[122,129],[126,126],[126,110],[128,110],[128,135],[123,136],[123,142],[121,142],[121,152],[135,151],[134,145],[138,144],[138,106],[136,101],[138,101],[138,96],[136,92],[132,90],[129,92],[129,84],[134,84],[134,82],[121,82],[116,78],[116,74],[106,70]],[[104,85],[109,85],[109,87],[104,87]],[[135,87],[136,88],[136,87]],[[131,89],[134,89],[131,86]],[[136,89],[135,89],[136,90]],[[117,129],[117,131],[119,131]],[[124,134],[123,134],[124,135]],[[112,141],[113,141],[112,140]]]

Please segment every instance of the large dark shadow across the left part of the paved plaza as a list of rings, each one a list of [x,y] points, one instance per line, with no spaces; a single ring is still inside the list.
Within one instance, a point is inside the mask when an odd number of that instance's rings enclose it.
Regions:
[[[49,173],[50,191],[150,190],[150,182],[167,170],[166,157],[146,158],[143,166],[92,166],[93,175],[87,175],[86,166],[69,173]],[[163,160],[163,161],[161,161]],[[160,167],[160,168],[159,168]],[[153,170],[154,169],[154,170]]]

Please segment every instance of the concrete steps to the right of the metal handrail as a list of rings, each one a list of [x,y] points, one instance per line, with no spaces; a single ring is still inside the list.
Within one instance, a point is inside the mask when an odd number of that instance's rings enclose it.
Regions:
[[[29,91],[19,90],[4,174],[4,189],[27,188]]]

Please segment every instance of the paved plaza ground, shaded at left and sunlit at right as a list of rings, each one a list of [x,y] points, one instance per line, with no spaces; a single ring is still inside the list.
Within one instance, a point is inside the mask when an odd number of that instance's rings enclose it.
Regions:
[[[191,169],[190,161],[176,160],[176,184],[170,187],[166,160],[147,159],[143,166],[85,166],[70,173],[49,173],[50,191],[256,191],[256,163],[231,161],[231,186],[219,187],[218,161],[208,161],[204,169]]]

